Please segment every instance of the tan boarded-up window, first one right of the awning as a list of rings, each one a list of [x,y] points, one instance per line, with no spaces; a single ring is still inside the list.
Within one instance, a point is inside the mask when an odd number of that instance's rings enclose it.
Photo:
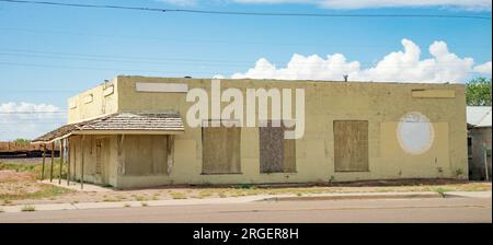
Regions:
[[[239,174],[241,128],[205,127],[202,129],[203,174]]]

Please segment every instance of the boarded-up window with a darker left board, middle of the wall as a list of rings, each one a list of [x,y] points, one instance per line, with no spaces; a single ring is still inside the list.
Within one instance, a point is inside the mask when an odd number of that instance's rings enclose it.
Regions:
[[[296,172],[296,141],[284,139],[286,128],[260,127],[260,170],[261,173]],[[290,129],[291,130],[291,129]]]

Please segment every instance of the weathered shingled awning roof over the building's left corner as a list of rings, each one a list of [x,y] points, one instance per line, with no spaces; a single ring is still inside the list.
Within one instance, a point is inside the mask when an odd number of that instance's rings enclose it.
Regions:
[[[61,126],[33,143],[48,143],[71,135],[176,135],[185,131],[177,113],[117,113]]]

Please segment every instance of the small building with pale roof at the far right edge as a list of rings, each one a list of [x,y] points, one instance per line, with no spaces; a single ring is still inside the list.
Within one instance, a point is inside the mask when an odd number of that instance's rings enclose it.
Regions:
[[[491,106],[467,107],[469,179],[471,180],[491,180],[492,177],[491,113]]]

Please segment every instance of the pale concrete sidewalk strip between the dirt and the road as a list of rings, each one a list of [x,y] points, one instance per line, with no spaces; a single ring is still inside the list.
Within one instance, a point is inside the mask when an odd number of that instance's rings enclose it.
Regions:
[[[359,192],[359,194],[316,194],[316,195],[261,195],[248,197],[117,201],[117,202],[81,202],[81,203],[45,203],[31,205],[35,211],[73,210],[73,209],[108,209],[123,207],[164,207],[164,206],[200,206],[230,205],[254,201],[294,201],[294,200],[349,200],[349,199],[423,199],[423,198],[490,198],[491,191],[450,191],[442,196],[438,192]],[[0,212],[22,212],[25,206],[0,206]],[[1,215],[0,215],[1,218]]]

